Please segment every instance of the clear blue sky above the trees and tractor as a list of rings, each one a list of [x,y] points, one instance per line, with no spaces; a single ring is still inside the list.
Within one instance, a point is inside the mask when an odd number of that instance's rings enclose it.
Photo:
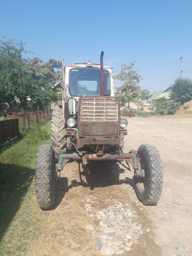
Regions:
[[[165,90],[192,79],[192,1],[0,0],[0,39],[26,42],[28,57],[113,66],[135,61],[140,86]],[[119,85],[119,82],[116,82]]]

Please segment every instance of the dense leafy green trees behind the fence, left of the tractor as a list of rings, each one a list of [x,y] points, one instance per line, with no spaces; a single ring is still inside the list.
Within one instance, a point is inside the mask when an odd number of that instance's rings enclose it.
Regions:
[[[61,78],[61,62],[47,62],[35,57],[24,58],[25,44],[12,39],[0,41],[0,107],[3,102],[24,109],[39,105],[44,108],[57,95],[52,88]]]

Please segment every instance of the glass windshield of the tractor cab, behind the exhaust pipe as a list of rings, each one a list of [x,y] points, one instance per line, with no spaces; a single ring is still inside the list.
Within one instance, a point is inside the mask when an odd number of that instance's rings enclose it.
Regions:
[[[105,71],[106,90],[104,95],[111,95],[110,74]],[[99,96],[100,69],[75,68],[70,70],[70,95],[72,96]]]

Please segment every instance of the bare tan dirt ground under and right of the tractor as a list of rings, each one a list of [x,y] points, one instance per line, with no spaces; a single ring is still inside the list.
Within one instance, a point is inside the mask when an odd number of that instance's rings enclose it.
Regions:
[[[57,181],[55,209],[39,210],[44,232],[28,255],[100,255],[93,250],[93,233],[86,228],[89,223],[98,228],[98,222],[86,214],[88,199],[97,210],[108,206],[106,199],[128,203],[135,210],[134,218],[143,224],[144,233],[139,244],[122,255],[192,255],[192,118],[134,117],[128,121],[125,152],[147,143],[160,152],[163,192],[158,205],[143,206],[138,201],[133,173],[125,162],[92,163],[89,175],[77,163],[69,163]]]

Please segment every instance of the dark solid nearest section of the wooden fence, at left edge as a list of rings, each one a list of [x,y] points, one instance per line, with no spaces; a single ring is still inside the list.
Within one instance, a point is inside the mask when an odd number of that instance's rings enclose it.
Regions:
[[[19,134],[19,118],[0,121],[0,144]]]

